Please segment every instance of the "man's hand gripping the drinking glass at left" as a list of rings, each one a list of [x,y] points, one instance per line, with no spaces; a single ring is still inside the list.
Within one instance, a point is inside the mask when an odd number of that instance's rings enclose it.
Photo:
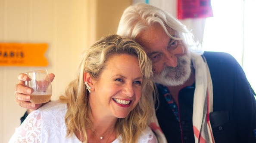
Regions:
[[[55,75],[49,74],[50,81],[52,82]],[[36,110],[37,108],[41,107],[43,104],[33,104],[30,102],[31,100],[31,94],[33,92],[33,89],[25,86],[25,81],[31,80],[27,74],[21,73],[18,75],[19,83],[15,86],[15,98],[14,101],[19,104],[19,106],[24,107],[28,109],[28,113],[30,113],[33,110]]]

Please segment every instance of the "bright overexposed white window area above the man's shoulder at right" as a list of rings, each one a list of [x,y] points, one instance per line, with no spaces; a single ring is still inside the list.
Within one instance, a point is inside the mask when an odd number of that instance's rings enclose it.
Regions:
[[[227,7],[232,3],[232,7]],[[222,51],[231,54],[243,67],[256,91],[255,33],[256,0],[212,1],[212,18],[206,19],[203,38],[204,51]]]

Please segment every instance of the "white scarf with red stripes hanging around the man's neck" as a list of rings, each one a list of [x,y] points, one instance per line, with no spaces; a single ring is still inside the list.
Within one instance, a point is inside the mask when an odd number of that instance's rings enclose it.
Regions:
[[[209,113],[213,110],[211,74],[206,59],[200,54],[191,52],[191,59],[196,75],[192,119],[195,143],[215,143],[209,120]],[[151,120],[150,128],[156,133],[159,143],[167,143],[155,113]]]

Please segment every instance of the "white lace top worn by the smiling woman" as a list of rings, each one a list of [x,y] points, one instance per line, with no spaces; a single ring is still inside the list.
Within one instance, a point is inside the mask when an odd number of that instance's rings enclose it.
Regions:
[[[65,114],[67,104],[51,101],[31,112],[24,122],[15,129],[9,143],[81,143],[73,134],[66,137]],[[119,143],[118,139],[112,143]],[[139,143],[157,143],[156,136],[148,127],[140,135]]]

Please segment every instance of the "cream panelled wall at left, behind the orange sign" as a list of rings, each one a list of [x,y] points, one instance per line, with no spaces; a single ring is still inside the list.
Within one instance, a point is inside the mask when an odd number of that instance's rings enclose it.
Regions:
[[[94,0],[0,0],[0,42],[46,42],[47,67],[0,66],[0,143],[7,143],[25,113],[14,102],[17,75],[48,69],[53,98],[73,79],[81,52],[95,41]]]

